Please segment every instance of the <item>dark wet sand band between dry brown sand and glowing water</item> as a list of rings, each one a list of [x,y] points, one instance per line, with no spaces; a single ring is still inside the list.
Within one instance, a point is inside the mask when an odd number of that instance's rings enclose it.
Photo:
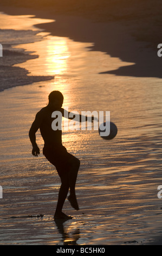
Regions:
[[[104,19],[93,19],[92,17],[88,19],[87,15],[74,16],[73,11],[70,14],[56,14],[55,11],[49,11],[46,8],[43,11],[20,7],[1,6],[0,8],[1,11],[9,15],[28,14],[35,15],[36,18],[40,19],[55,20],[50,23],[36,24],[35,27],[43,29],[44,32],[53,36],[93,43],[93,46],[89,48],[90,51],[100,51],[128,63],[116,70],[99,74],[162,78],[161,59],[157,56],[158,49],[154,47],[154,42],[139,41],[138,36],[132,35],[133,31],[138,32],[138,26],[135,28],[134,23],[128,25],[127,20],[103,22]],[[131,31],[132,26],[133,31]]]

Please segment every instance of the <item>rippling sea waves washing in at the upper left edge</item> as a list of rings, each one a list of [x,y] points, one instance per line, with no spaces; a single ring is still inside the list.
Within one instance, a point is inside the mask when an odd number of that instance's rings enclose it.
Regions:
[[[4,17],[5,15],[6,14],[4,13]],[[3,14],[1,14],[1,18],[2,17]],[[21,68],[20,66],[14,66],[15,64],[19,65],[21,63],[27,62],[27,60],[30,59],[39,58],[37,54],[33,54],[35,51],[26,51],[23,47],[23,44],[30,44],[36,41],[44,40],[44,36],[37,35],[41,31],[2,28],[0,29],[0,32],[0,41],[3,47],[3,56],[0,58],[0,92],[3,92],[3,90],[12,87],[24,86],[26,84],[35,82],[48,81],[54,78],[54,76],[30,75],[30,72],[27,69]],[[10,33],[11,36],[9,36]],[[21,45],[21,48],[19,45]]]

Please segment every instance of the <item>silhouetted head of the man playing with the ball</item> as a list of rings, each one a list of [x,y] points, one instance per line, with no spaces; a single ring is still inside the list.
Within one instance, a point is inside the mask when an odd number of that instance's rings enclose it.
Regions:
[[[59,90],[53,90],[48,95],[48,100],[49,100],[49,105],[51,107],[57,108],[57,107],[62,107],[63,104],[63,95],[62,93],[59,92]]]

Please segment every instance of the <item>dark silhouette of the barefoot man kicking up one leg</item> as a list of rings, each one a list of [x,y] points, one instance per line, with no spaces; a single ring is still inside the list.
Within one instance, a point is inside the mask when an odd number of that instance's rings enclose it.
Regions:
[[[49,103],[46,107],[42,108],[36,114],[35,120],[31,125],[29,131],[29,137],[31,144],[33,145],[32,154],[38,156],[40,149],[36,144],[35,133],[40,129],[41,135],[44,140],[43,154],[47,160],[52,163],[61,178],[61,187],[59,191],[59,198],[56,206],[54,218],[72,218],[62,212],[64,201],[67,197],[70,189],[70,195],[68,200],[72,207],[79,210],[77,199],[75,195],[75,184],[77,178],[77,172],[80,166],[80,160],[75,156],[69,154],[65,147],[62,145],[62,131],[54,131],[51,127],[51,123],[54,120],[51,118],[51,114],[54,111],[60,111],[64,116],[64,109],[62,108],[63,95],[59,91],[53,91],[49,94]],[[66,115],[67,117],[67,115]],[[75,116],[74,116],[75,117]],[[74,119],[68,118],[69,119]],[[81,115],[79,115],[81,121]],[[87,117],[86,117],[87,121]]]

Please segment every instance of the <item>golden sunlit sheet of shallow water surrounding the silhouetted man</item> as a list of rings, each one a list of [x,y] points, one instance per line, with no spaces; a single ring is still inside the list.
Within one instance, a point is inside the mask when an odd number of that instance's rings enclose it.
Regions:
[[[20,22],[24,17],[12,18],[16,30],[16,19]],[[28,29],[34,30],[29,24]],[[157,197],[162,163],[160,78],[99,74],[129,63],[90,51],[93,42],[39,35],[44,39],[14,48],[35,51],[40,57],[16,66],[28,69],[30,75],[43,73],[55,79],[0,93],[0,243],[139,245],[154,240],[161,234],[162,214]],[[53,220],[59,176],[42,151],[37,158],[31,155],[28,138],[36,112],[46,106],[54,89],[63,93],[63,107],[69,111],[110,111],[118,126],[112,141],[93,130],[63,132],[64,146],[81,161],[76,186],[80,211],[66,202],[64,211],[74,218],[64,223]],[[42,149],[39,132],[37,143]],[[38,214],[43,218],[9,218]]]

